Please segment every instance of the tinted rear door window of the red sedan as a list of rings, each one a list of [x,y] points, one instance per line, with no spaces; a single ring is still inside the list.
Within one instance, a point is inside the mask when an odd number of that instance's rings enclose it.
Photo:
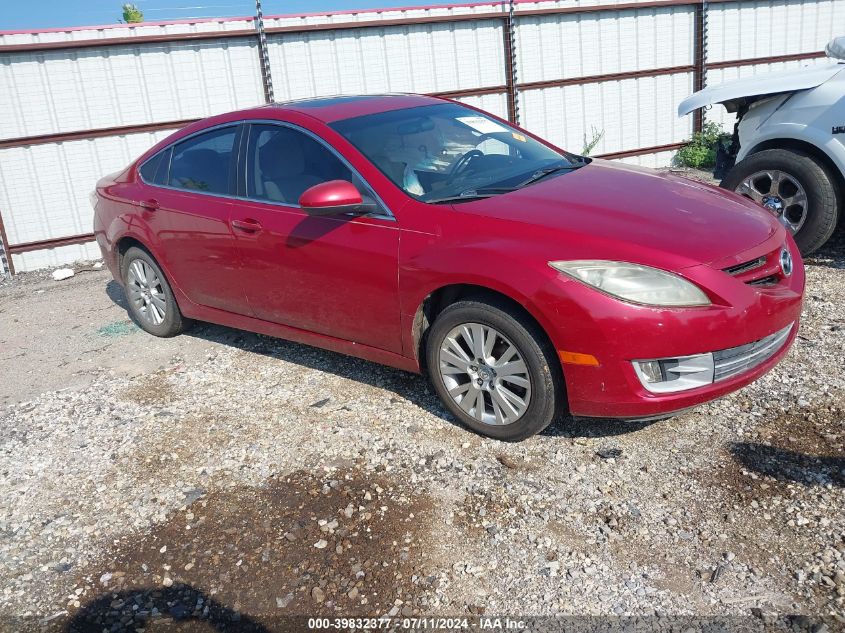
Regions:
[[[237,128],[229,127],[194,136],[173,147],[171,187],[205,193],[232,193],[229,170]]]

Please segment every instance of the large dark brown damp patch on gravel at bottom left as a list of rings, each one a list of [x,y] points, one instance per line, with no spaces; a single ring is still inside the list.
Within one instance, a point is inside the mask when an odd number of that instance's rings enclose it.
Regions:
[[[77,586],[102,593],[56,624],[263,631],[290,616],[407,617],[442,567],[430,560],[431,500],[385,473],[297,471],[192,501],[80,572]]]

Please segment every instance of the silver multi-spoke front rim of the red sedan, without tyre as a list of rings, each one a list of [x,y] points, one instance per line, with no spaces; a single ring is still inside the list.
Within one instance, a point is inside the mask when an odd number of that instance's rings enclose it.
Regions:
[[[501,332],[481,323],[452,328],[440,345],[439,359],[449,396],[479,422],[513,424],[528,410],[528,366]]]

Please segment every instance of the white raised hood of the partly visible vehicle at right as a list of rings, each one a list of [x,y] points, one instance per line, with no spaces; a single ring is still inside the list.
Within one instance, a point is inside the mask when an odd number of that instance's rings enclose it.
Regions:
[[[728,112],[736,110],[736,102],[748,97],[771,96],[820,86],[845,70],[845,63],[805,66],[798,70],[766,73],[710,86],[693,93],[678,106],[678,116],[713,103],[724,103]]]

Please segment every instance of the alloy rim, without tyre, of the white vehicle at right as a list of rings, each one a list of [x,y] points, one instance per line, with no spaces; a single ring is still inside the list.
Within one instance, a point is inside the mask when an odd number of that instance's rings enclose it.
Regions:
[[[795,235],[807,219],[807,193],[798,180],[777,169],[758,171],[743,180],[735,191],[763,205]]]

